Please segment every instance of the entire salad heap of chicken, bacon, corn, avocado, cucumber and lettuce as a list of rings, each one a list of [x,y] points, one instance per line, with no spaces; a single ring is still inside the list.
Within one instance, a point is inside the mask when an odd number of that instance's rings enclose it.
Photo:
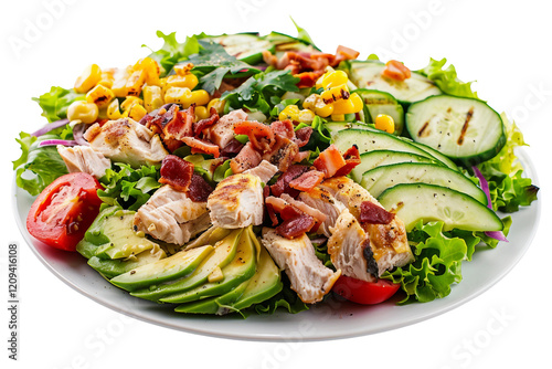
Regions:
[[[185,314],[449,295],[537,200],[521,131],[445,59],[412,71],[297,30],[158,31],[35,98],[49,124],[13,162],[29,233]]]

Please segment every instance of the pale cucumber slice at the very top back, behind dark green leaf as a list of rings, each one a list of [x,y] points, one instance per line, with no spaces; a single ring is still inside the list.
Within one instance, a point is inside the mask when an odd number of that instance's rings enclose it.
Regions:
[[[256,33],[223,34],[210,40],[221,44],[230,55],[252,65],[263,61],[263,51],[275,51],[270,41]]]

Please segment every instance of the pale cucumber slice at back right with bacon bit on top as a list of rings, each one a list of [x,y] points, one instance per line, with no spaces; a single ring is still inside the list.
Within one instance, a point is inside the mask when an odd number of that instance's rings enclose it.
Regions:
[[[402,104],[408,105],[432,95],[440,95],[440,89],[420,73],[404,81],[395,81],[382,76],[385,64],[379,61],[349,62],[349,80],[359,88],[378,89],[390,93]]]

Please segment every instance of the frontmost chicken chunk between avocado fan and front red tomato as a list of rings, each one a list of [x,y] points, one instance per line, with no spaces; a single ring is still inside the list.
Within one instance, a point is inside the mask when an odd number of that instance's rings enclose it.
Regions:
[[[288,240],[264,228],[262,242],[279,268],[286,272],[291,289],[306,304],[322,301],[341,275],[341,271],[333,272],[322,264],[306,234]]]

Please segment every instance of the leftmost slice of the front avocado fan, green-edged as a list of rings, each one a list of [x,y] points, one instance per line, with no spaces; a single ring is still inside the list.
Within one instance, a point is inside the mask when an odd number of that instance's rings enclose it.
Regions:
[[[213,250],[213,246],[204,245],[180,251],[155,263],[131,268],[110,282],[123,289],[136,291],[153,284],[181,278],[192,273]],[[142,254],[145,253],[140,253],[138,257]]]

